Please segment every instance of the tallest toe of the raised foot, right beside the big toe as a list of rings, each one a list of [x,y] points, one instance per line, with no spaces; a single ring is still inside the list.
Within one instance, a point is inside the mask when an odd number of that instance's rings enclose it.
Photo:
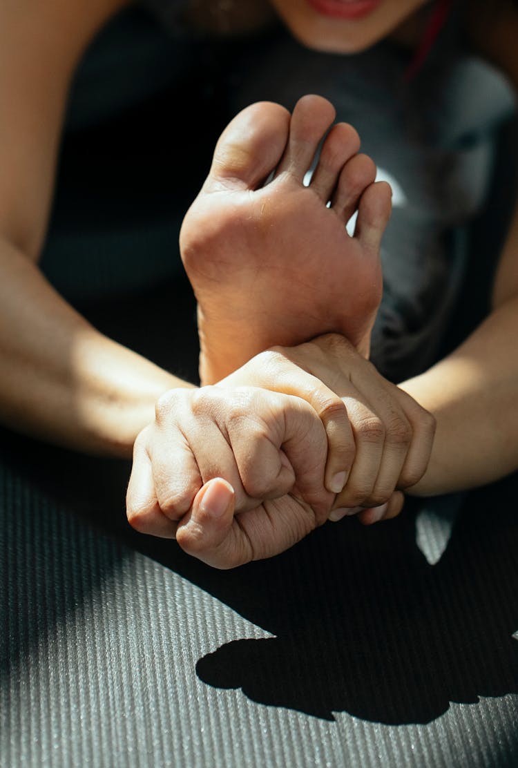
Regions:
[[[291,116],[290,139],[277,167],[277,175],[287,171],[302,183],[318,144],[335,115],[333,104],[322,96],[303,96],[297,101]]]

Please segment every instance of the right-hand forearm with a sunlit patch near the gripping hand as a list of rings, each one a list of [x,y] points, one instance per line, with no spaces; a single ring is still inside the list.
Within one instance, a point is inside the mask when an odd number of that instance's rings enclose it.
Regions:
[[[437,421],[427,472],[410,494],[473,488],[518,468],[517,328],[514,297],[450,356],[400,385]]]

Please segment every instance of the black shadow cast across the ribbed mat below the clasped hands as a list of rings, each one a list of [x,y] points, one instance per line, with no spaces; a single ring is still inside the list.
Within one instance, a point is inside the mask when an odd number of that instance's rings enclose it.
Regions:
[[[270,561],[215,571],[129,528],[127,463],[23,439],[11,446],[11,461],[51,504],[65,502],[274,635],[217,648],[213,628],[214,652],[196,667],[206,684],[327,720],[346,711],[393,725],[428,723],[450,702],[518,693],[516,478],[468,496],[433,566],[409,508],[372,528],[328,523]]]

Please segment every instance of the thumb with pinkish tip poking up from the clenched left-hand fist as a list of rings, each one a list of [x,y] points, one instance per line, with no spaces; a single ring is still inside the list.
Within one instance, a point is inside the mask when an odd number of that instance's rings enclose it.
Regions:
[[[178,525],[176,540],[181,548],[209,565],[225,567],[221,560],[234,521],[234,503],[229,482],[223,478],[206,482]]]

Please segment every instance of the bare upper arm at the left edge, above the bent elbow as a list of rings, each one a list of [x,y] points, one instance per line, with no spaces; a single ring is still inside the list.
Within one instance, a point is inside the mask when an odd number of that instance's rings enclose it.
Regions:
[[[0,235],[36,259],[71,76],[127,0],[0,0]]]

